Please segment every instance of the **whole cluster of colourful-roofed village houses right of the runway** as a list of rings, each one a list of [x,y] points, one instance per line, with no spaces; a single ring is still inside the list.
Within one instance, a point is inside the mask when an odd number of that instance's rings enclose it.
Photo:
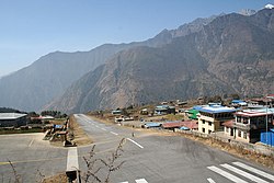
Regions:
[[[155,115],[184,113],[189,121],[146,123],[146,128],[191,129],[201,134],[216,134],[243,142],[274,146],[274,94],[249,101],[233,100],[229,106],[220,103],[196,105],[190,110],[156,106]],[[146,111],[141,112],[145,113]]]

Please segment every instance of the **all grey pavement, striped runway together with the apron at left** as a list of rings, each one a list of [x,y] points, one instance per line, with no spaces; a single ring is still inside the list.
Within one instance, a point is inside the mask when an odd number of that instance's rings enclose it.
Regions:
[[[121,139],[126,139],[123,156],[117,161],[125,163],[111,174],[112,183],[274,182],[272,170],[197,141],[103,124],[82,114],[77,114],[76,118],[92,137],[96,158],[107,160]],[[42,138],[43,134],[0,136],[0,182],[10,182],[14,178],[8,160],[27,183],[36,182],[37,170],[47,176],[66,171],[70,164],[82,172],[87,170],[83,157],[89,155],[92,146],[68,150],[52,147]],[[68,160],[69,157],[72,159]],[[105,174],[105,169],[99,173],[100,178]]]

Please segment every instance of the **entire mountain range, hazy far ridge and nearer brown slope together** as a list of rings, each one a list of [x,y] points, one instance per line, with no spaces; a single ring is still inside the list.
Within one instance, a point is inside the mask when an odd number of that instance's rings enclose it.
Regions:
[[[0,103],[78,113],[215,94],[265,94],[274,90],[273,47],[273,9],[197,19],[145,42],[44,56],[0,80]]]

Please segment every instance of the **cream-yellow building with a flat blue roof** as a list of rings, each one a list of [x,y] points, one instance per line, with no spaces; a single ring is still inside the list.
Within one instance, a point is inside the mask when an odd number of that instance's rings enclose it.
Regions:
[[[218,130],[224,130],[222,123],[233,118],[235,108],[221,106],[219,104],[209,104],[196,106],[198,115],[198,131],[210,134]]]

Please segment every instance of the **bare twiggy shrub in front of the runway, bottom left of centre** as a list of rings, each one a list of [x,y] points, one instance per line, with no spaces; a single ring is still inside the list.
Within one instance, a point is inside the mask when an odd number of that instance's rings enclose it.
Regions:
[[[122,165],[125,163],[125,161],[119,162],[118,159],[121,158],[123,150],[123,145],[125,144],[125,138],[123,138],[117,148],[114,152],[112,152],[111,157],[106,158],[106,160],[102,158],[95,158],[95,145],[92,147],[92,149],[89,152],[88,157],[83,157],[83,160],[87,164],[87,172],[83,175],[83,181],[85,183],[88,182],[102,182],[102,183],[109,183],[111,174],[118,169],[122,168]],[[101,173],[103,172],[103,173]]]

